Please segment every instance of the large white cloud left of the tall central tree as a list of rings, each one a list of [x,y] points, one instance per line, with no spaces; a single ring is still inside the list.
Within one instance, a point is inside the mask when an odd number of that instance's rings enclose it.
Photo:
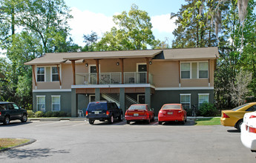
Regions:
[[[88,10],[79,10],[76,7],[71,8],[70,14],[73,19],[68,21],[70,28],[70,35],[73,42],[84,46],[83,35],[91,34],[91,31],[96,32],[98,36],[102,36],[102,33],[110,31],[111,27],[114,27],[112,16],[105,16],[102,13],[92,13]]]

